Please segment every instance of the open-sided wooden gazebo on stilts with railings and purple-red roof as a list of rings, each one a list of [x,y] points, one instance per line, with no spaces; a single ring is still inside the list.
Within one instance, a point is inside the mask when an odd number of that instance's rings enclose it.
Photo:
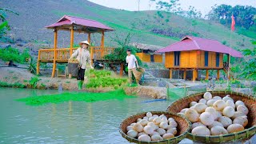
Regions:
[[[95,60],[102,60],[104,55],[110,54],[114,50],[114,48],[105,47],[104,45],[105,32],[112,31],[114,29],[94,20],[64,15],[61,19],[58,20],[58,22],[50,26],[46,26],[46,28],[54,30],[54,48],[38,50],[37,74],[39,74],[40,62],[51,62],[53,63],[51,77],[54,78],[56,64],[67,63],[70,55],[73,54],[75,49],[77,49],[73,47],[74,32],[88,34],[88,42],[90,42],[90,34],[102,34],[101,46],[90,46],[90,57],[92,62],[94,62]],[[57,48],[58,30],[70,31],[70,48]]]

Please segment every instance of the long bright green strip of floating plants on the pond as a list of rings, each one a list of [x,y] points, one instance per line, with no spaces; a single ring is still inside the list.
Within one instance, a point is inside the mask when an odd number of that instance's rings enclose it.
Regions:
[[[26,105],[30,106],[41,106],[46,103],[60,103],[68,101],[98,102],[110,99],[122,100],[124,98],[134,98],[134,96],[126,95],[124,90],[114,90],[106,93],[69,92],[63,94],[32,96],[16,99],[16,101],[26,102]]]

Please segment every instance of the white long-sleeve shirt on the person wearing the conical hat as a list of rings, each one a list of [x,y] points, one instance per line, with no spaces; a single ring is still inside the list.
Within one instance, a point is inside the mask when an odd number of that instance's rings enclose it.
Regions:
[[[77,58],[82,69],[86,69],[87,63],[91,65],[90,51],[88,49],[82,49],[79,47],[74,51],[74,54],[72,54],[70,58]]]

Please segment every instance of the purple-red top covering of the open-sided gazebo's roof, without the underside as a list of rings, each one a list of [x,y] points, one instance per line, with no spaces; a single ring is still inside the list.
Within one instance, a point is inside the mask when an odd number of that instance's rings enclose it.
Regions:
[[[51,24],[49,26],[46,26],[46,28],[54,28],[58,26],[64,26],[64,25],[79,25],[79,26],[86,26],[86,27],[92,27],[92,28],[98,28],[103,30],[114,30],[110,28],[109,26],[106,26],[102,24],[101,22],[97,22],[90,19],[84,19],[84,18],[78,18],[74,16],[64,15],[61,19],[58,20],[58,22]]]

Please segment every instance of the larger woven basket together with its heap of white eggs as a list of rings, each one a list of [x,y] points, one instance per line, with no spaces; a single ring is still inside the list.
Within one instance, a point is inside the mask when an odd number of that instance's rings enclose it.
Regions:
[[[182,114],[191,123],[186,138],[194,142],[245,141],[256,132],[256,99],[232,91],[191,94],[166,111]]]

